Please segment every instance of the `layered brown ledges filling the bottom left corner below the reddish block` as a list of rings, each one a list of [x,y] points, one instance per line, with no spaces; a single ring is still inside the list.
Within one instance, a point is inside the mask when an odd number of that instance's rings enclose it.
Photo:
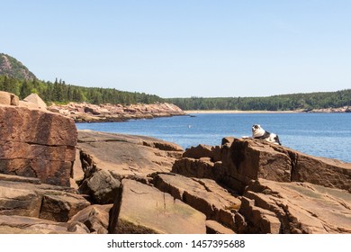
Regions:
[[[0,233],[87,233],[81,223],[67,220],[89,205],[69,187],[17,175],[0,176]]]

